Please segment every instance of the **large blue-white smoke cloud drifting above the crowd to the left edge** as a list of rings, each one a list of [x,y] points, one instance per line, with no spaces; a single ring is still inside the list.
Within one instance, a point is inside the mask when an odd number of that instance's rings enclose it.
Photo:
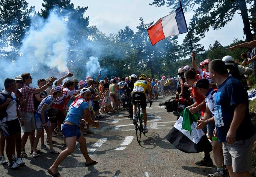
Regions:
[[[54,12],[48,19],[37,14],[31,16],[31,26],[22,41],[19,57],[14,61],[10,56],[1,60],[0,88],[6,78],[14,78],[22,73],[31,73],[33,86],[41,78],[48,77],[51,68],[59,72],[69,72],[68,63],[68,28],[65,20]],[[11,48],[11,46],[9,46]]]

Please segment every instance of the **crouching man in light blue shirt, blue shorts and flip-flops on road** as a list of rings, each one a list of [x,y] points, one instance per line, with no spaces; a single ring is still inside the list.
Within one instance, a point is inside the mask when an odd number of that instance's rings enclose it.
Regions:
[[[68,115],[64,121],[62,126],[63,134],[66,137],[67,147],[63,150],[60,155],[57,157],[53,165],[47,171],[51,176],[58,177],[60,176],[58,172],[58,167],[60,163],[72,152],[75,150],[75,142],[78,141],[80,143],[80,150],[83,153],[84,158],[86,159],[86,166],[97,164],[98,162],[93,161],[87,152],[86,147],[86,139],[84,136],[81,136],[81,132],[79,131],[80,122],[88,122],[91,123],[96,128],[99,127],[98,121],[93,121],[89,117],[88,112],[88,103],[86,100],[90,100],[91,92],[87,88],[83,88],[80,92],[80,97],[74,101],[69,107]]]

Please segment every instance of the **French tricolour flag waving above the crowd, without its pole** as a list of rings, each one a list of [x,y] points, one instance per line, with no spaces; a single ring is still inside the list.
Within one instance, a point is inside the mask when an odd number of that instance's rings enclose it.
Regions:
[[[182,7],[179,7],[163,18],[160,18],[154,25],[148,28],[148,35],[153,46],[166,37],[186,32],[188,32],[188,28],[182,12]]]

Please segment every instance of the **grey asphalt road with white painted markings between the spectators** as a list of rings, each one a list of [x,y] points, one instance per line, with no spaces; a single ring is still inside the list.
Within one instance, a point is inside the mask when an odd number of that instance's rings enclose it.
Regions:
[[[176,120],[172,113],[166,112],[164,106],[158,106],[158,103],[163,103],[168,98],[170,96],[161,97],[154,100],[151,108],[147,107],[149,132],[142,135],[140,144],[128,112],[104,114],[105,118],[100,120],[100,128],[92,129],[95,133],[85,136],[90,157],[99,163],[85,167],[85,159],[77,144],[75,152],[60,164],[59,173],[62,177],[202,177],[215,173],[214,167],[195,165],[196,161],[203,158],[203,153],[181,152],[164,139]],[[54,137],[53,140],[58,141],[58,144],[54,144],[56,150],[64,150],[61,136]],[[39,149],[40,146],[39,141]],[[28,141],[27,153],[29,150]],[[50,176],[47,170],[57,155],[42,151],[45,153],[36,159],[28,154],[24,158],[26,164],[17,170],[11,170],[8,165],[0,166],[0,177]]]

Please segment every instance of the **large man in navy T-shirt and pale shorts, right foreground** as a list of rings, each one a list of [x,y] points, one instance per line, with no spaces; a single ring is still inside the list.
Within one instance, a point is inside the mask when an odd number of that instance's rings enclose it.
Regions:
[[[219,85],[214,107],[214,136],[223,143],[224,164],[230,177],[252,177],[249,171],[255,131],[249,117],[247,93],[239,80],[228,75],[220,59],[210,62],[209,71]]]

